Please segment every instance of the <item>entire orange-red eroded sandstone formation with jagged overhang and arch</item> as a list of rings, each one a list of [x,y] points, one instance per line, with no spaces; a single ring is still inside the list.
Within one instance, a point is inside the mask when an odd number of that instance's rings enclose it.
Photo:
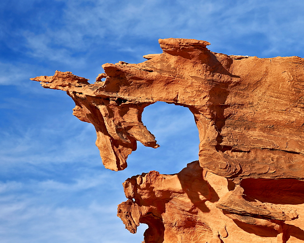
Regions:
[[[199,161],[127,179],[118,208],[126,228],[148,224],[145,243],[304,242],[304,59],[227,56],[194,39],[159,43],[163,53],[145,62],[104,64],[93,84],[58,71],[32,79],[71,96],[111,170],[126,168],[136,141],[158,147],[141,121],[146,106],[193,113]]]

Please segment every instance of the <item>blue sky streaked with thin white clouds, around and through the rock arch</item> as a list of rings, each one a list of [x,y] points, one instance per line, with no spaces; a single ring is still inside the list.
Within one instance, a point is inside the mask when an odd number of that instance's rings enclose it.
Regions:
[[[303,1],[3,0],[0,5],[0,241],[141,242],[116,217],[122,182],[177,173],[198,158],[184,107],[156,103],[143,122],[161,147],[139,144],[126,170],[102,166],[92,124],[65,92],[29,78],[55,70],[92,81],[109,62],[143,62],[159,38],[206,40],[228,55],[304,57]]]

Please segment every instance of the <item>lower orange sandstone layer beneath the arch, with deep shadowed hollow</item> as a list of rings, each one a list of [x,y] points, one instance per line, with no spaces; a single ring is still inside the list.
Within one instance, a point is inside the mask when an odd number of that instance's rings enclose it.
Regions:
[[[204,170],[198,161],[177,174],[150,171],[124,182],[128,200],[118,205],[117,215],[132,233],[140,223],[148,224],[146,243],[303,242],[304,221],[295,211],[303,213],[304,182],[263,180],[244,179],[244,197],[254,206],[235,200],[230,207],[240,204],[237,209],[243,212],[233,213],[218,206],[234,191],[229,181]]]

